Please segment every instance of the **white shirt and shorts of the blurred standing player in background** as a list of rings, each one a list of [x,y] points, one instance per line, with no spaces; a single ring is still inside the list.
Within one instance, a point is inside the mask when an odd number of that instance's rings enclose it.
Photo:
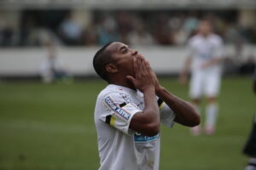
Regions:
[[[192,57],[189,95],[192,99],[200,98],[202,94],[218,95],[222,65],[218,63],[207,68],[202,65],[223,57],[222,44],[221,37],[216,34],[207,37],[199,34],[189,39],[189,56]]]

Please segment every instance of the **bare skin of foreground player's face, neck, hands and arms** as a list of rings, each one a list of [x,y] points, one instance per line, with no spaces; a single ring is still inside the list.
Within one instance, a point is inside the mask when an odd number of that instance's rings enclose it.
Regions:
[[[111,43],[106,50],[112,54],[113,63],[106,65],[108,82],[144,94],[145,107],[137,112],[130,123],[130,128],[147,136],[154,136],[160,131],[160,111],[154,98],[158,95],[166,105],[176,113],[175,122],[194,127],[200,123],[200,116],[195,108],[183,99],[172,95],[162,87],[152,71],[148,60],[137,50],[129,48],[121,42]]]

